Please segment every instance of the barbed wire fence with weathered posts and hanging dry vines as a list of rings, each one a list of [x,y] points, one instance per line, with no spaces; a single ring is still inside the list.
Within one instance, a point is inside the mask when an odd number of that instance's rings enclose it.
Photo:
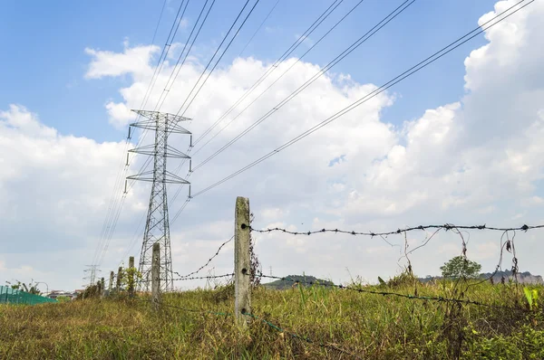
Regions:
[[[518,232],[529,232],[532,230],[538,230],[543,229],[544,225],[527,225],[523,224],[518,227],[494,227],[494,226],[488,226],[487,224],[481,224],[481,225],[455,225],[452,223],[443,223],[443,224],[427,224],[427,225],[418,225],[413,227],[406,227],[406,228],[397,228],[393,231],[387,231],[387,232],[360,232],[355,230],[345,230],[345,229],[327,229],[322,228],[320,230],[314,230],[314,231],[308,231],[308,232],[298,232],[289,230],[287,228],[280,228],[280,227],[274,227],[274,228],[264,228],[264,229],[257,229],[252,226],[253,216],[252,213],[249,212],[249,204],[248,199],[246,198],[240,198],[237,199],[237,207],[236,207],[236,220],[235,220],[235,233],[233,236],[228,238],[227,241],[222,242],[219,245],[219,248],[215,253],[209,257],[208,261],[206,261],[203,265],[201,265],[197,270],[190,271],[189,273],[182,275],[180,272],[174,271],[174,274],[177,276],[177,278],[174,278],[172,280],[174,281],[189,281],[189,280],[201,280],[206,279],[207,281],[213,279],[213,280],[219,280],[219,281],[226,281],[225,286],[232,285],[235,288],[235,298],[234,298],[234,312],[223,312],[223,311],[215,311],[211,309],[205,309],[205,308],[185,308],[185,307],[179,307],[174,304],[170,304],[168,302],[165,302],[161,294],[159,293],[160,286],[153,285],[155,283],[160,282],[161,279],[159,279],[158,276],[152,275],[153,278],[151,279],[151,297],[149,296],[149,293],[141,293],[136,294],[137,296],[133,296],[132,298],[138,300],[150,303],[156,308],[170,308],[171,310],[179,310],[179,311],[188,311],[192,313],[199,313],[199,314],[206,314],[211,316],[221,316],[221,317],[234,317],[236,321],[241,324],[242,326],[247,326],[251,319],[257,320],[257,322],[266,324],[268,327],[274,328],[277,331],[281,333],[285,333],[288,336],[291,336],[294,339],[304,341],[308,344],[312,344],[315,346],[320,346],[324,348],[328,348],[330,350],[334,350],[338,353],[341,353],[343,355],[348,355],[354,358],[361,358],[359,355],[354,354],[353,352],[347,351],[345,349],[342,349],[334,344],[327,344],[319,341],[314,341],[306,336],[298,335],[294,332],[286,331],[283,327],[278,326],[277,324],[274,324],[272,321],[269,321],[266,316],[259,316],[257,312],[253,311],[251,308],[250,298],[251,298],[251,292],[252,292],[252,282],[250,281],[253,279],[270,279],[270,280],[280,280],[280,281],[286,281],[289,283],[292,283],[293,286],[309,286],[309,287],[324,287],[324,288],[330,288],[330,289],[338,289],[338,290],[345,290],[345,291],[352,291],[360,294],[368,294],[373,296],[380,296],[380,297],[393,297],[393,298],[403,298],[408,300],[414,300],[414,301],[424,301],[424,302],[434,302],[437,304],[443,304],[447,308],[447,314],[448,317],[444,318],[444,321],[450,321],[451,324],[449,327],[446,327],[444,331],[451,332],[451,339],[453,342],[457,342],[456,346],[453,346],[453,350],[455,352],[455,355],[459,355],[458,353],[461,351],[461,337],[457,336],[456,334],[459,334],[461,331],[460,323],[458,321],[459,314],[462,307],[465,306],[475,306],[475,307],[481,307],[481,308],[489,308],[489,309],[496,309],[500,311],[510,311],[511,313],[526,313],[529,311],[528,308],[523,307],[520,303],[514,304],[514,306],[508,306],[508,305],[499,305],[494,303],[486,303],[480,300],[471,299],[468,297],[468,290],[471,287],[474,287],[478,284],[481,284],[485,281],[492,281],[492,278],[500,271],[502,270],[502,264],[504,260],[504,254],[505,251],[509,252],[512,255],[512,263],[511,263],[511,277],[513,278],[514,282],[518,283],[518,271],[519,271],[519,261],[516,254],[516,247],[515,247],[515,238]],[[417,251],[421,249],[422,247],[426,246],[431,240],[437,235],[439,232],[453,232],[457,236],[459,236],[461,240],[461,258],[463,261],[468,261],[467,259],[467,247],[468,242],[470,240],[470,232],[468,231],[491,231],[491,232],[501,232],[500,235],[500,255],[499,255],[499,261],[497,262],[497,265],[495,267],[495,270],[491,273],[490,276],[480,279],[480,280],[474,280],[474,279],[468,279],[465,276],[460,276],[457,279],[454,279],[453,286],[450,291],[450,296],[431,296],[431,295],[420,295],[418,294],[418,288],[417,283],[419,281],[414,283],[414,290],[413,293],[404,293],[401,291],[393,291],[391,289],[380,289],[380,287],[376,287],[373,285],[370,286],[364,286],[362,284],[355,284],[355,282],[352,279],[352,284],[350,285],[344,285],[344,284],[335,284],[332,281],[313,281],[313,280],[301,280],[301,279],[294,279],[291,276],[273,276],[273,275],[266,275],[262,272],[262,270],[256,269],[254,266],[252,266],[252,258],[251,253],[253,249],[251,248],[250,242],[251,242],[251,234],[252,233],[259,233],[259,234],[268,234],[268,233],[282,233],[287,234],[290,236],[319,236],[320,234],[324,233],[339,233],[344,235],[351,235],[351,236],[359,236],[359,237],[380,237],[384,242],[387,242],[391,246],[400,246],[402,245],[396,245],[391,242],[387,241],[387,237],[390,235],[403,235],[404,238],[404,246],[403,249],[401,249],[401,258],[399,261],[401,261],[403,258],[407,261],[407,266],[405,267],[405,270],[410,273],[410,275],[413,276],[413,270],[412,270],[412,261],[410,260],[410,255],[413,254],[414,251]],[[408,239],[407,234],[409,232],[418,232],[418,231],[424,231],[426,232],[425,239],[423,240],[423,243],[416,246],[412,250],[408,251]],[[234,258],[235,258],[235,267],[233,272],[228,272],[224,274],[209,274],[209,275],[198,275],[202,270],[206,269],[210,263],[216,259],[221,251],[227,246],[228,243],[234,241]],[[160,267],[160,261],[158,258],[153,257],[154,263],[156,263],[157,268]],[[125,272],[123,272],[125,271]],[[121,274],[126,275],[126,270],[122,270],[120,268],[119,272]],[[156,274],[158,274],[157,272]],[[115,275],[117,276],[117,274]],[[131,276],[131,275],[129,275]],[[119,277],[117,276],[117,291],[113,291],[113,294],[118,293],[120,291],[119,288]],[[125,279],[126,281],[126,279]],[[502,282],[504,283],[504,278],[502,279]],[[127,287],[125,286],[125,289]],[[217,288],[217,286],[216,286]],[[110,285],[110,289],[112,289],[112,285]],[[122,289],[121,289],[122,290]],[[457,333],[455,333],[457,331]]]

